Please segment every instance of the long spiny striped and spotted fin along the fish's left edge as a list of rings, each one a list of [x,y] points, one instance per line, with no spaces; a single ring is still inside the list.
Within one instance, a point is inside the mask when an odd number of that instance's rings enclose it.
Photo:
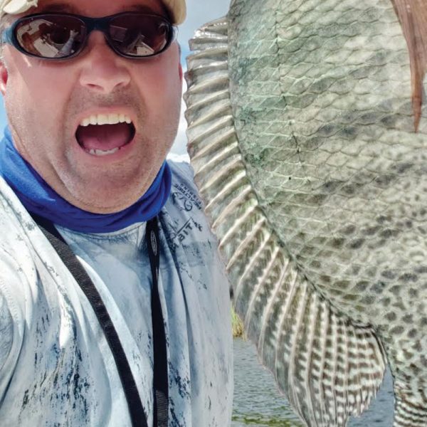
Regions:
[[[345,426],[379,389],[384,349],[371,327],[339,314],[305,280],[260,209],[234,128],[227,19],[201,27],[191,49],[189,154],[236,311],[261,362],[307,426]]]

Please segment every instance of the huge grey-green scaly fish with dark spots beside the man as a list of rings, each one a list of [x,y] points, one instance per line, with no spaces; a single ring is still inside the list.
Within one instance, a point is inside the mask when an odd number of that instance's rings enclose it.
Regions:
[[[189,153],[236,310],[307,426],[389,364],[427,426],[426,0],[233,0],[188,59]]]

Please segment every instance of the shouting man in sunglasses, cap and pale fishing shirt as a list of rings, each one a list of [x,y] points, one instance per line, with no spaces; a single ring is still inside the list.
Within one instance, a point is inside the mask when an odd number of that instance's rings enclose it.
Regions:
[[[228,285],[189,167],[164,161],[184,0],[3,0],[1,11],[1,426],[152,426],[164,396],[169,426],[228,425]],[[97,302],[46,238],[56,231]],[[154,374],[164,353],[166,392]]]

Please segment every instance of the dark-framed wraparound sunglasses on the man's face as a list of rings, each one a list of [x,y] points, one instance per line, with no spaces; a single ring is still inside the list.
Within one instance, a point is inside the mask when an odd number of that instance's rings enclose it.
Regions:
[[[177,28],[162,16],[124,12],[104,18],[73,14],[35,14],[15,21],[1,40],[28,56],[62,60],[77,56],[91,31],[102,31],[110,48],[125,58],[159,55],[176,38]]]

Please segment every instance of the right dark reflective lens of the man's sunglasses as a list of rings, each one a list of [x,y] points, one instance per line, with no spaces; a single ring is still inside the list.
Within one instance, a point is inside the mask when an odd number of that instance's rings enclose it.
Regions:
[[[112,47],[125,56],[152,56],[169,46],[173,27],[161,16],[121,14],[110,21]]]

